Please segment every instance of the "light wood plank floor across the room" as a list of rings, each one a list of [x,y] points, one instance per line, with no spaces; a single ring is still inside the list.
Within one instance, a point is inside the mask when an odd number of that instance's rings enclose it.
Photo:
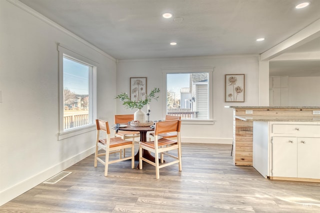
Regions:
[[[320,212],[320,184],[264,179],[232,164],[230,145],[182,143],[178,165],[130,169],[130,162],[93,167],[93,155],[0,207],[1,213],[241,213]],[[137,148],[136,148],[137,150]],[[137,165],[137,162],[135,162]]]

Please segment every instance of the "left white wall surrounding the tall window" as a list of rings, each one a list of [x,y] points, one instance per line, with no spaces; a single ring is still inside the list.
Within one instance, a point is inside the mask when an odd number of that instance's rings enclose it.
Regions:
[[[93,153],[95,131],[57,140],[58,42],[99,64],[97,114],[115,113],[115,60],[13,3],[0,0],[0,205]]]

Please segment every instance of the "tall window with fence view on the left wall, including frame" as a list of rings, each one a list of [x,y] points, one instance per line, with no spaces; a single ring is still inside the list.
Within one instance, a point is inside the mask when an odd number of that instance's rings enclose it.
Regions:
[[[61,45],[58,50],[62,61],[59,63],[59,138],[63,139],[94,127],[96,66],[95,62]],[[72,134],[61,136],[67,133]]]

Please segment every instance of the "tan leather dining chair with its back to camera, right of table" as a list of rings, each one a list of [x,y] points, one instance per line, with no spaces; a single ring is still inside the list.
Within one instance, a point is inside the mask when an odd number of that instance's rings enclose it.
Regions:
[[[160,121],[155,124],[154,128],[154,141],[149,142],[139,142],[139,169],[142,169],[142,161],[151,164],[155,167],[155,178],[159,179],[159,169],[170,166],[172,164],[179,165],[179,171],[182,171],[181,165],[181,139],[180,139],[180,127],[181,120],[169,120],[169,121]],[[176,135],[173,135],[172,138],[176,137],[177,140],[170,140],[170,137],[167,138],[158,138],[159,134],[175,132]],[[151,153],[154,153],[155,162],[147,160],[142,157],[142,149],[147,150]],[[168,151],[177,150],[177,155],[168,153]],[[159,154],[167,155],[173,159],[173,161],[168,161],[166,163],[161,163],[159,165]]]

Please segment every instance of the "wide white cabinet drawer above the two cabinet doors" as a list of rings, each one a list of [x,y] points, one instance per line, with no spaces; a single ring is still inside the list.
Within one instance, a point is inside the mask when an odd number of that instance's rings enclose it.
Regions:
[[[305,137],[320,137],[320,125],[273,124],[273,134],[289,134]]]

